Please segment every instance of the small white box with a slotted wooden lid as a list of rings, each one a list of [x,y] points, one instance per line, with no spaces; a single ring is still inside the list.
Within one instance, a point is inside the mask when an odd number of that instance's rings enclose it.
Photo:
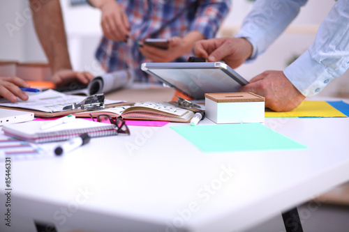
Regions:
[[[264,123],[265,98],[254,93],[205,93],[205,116],[215,123]]]

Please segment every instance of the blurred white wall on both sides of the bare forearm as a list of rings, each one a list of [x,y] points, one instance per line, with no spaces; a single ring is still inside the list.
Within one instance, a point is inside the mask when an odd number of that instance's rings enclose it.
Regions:
[[[84,70],[94,62],[94,51],[101,38],[101,13],[90,6],[72,7],[60,0],[73,67]],[[25,0],[0,0],[0,60],[47,62]]]

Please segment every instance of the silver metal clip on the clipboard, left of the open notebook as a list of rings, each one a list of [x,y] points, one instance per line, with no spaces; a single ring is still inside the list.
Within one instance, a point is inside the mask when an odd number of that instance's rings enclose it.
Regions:
[[[63,107],[63,110],[68,109],[85,109],[85,110],[98,110],[104,109],[104,93],[98,93],[85,98],[82,102],[74,102],[72,105]]]

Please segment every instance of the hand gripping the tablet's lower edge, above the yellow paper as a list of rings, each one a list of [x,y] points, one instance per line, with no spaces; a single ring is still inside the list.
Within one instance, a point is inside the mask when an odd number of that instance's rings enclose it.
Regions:
[[[285,77],[282,71],[265,71],[253,77],[239,91],[265,97],[265,107],[274,111],[290,111],[304,100],[304,95]]]

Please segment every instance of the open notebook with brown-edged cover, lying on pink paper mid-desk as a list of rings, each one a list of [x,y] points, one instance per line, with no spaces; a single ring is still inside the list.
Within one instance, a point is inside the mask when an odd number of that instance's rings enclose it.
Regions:
[[[175,107],[174,105],[166,102],[139,102],[131,106],[111,107],[98,111],[77,113],[75,116],[89,117],[89,114],[92,116],[107,114],[112,117],[121,116],[124,119],[170,121],[179,123],[187,123],[194,116],[193,111]]]

